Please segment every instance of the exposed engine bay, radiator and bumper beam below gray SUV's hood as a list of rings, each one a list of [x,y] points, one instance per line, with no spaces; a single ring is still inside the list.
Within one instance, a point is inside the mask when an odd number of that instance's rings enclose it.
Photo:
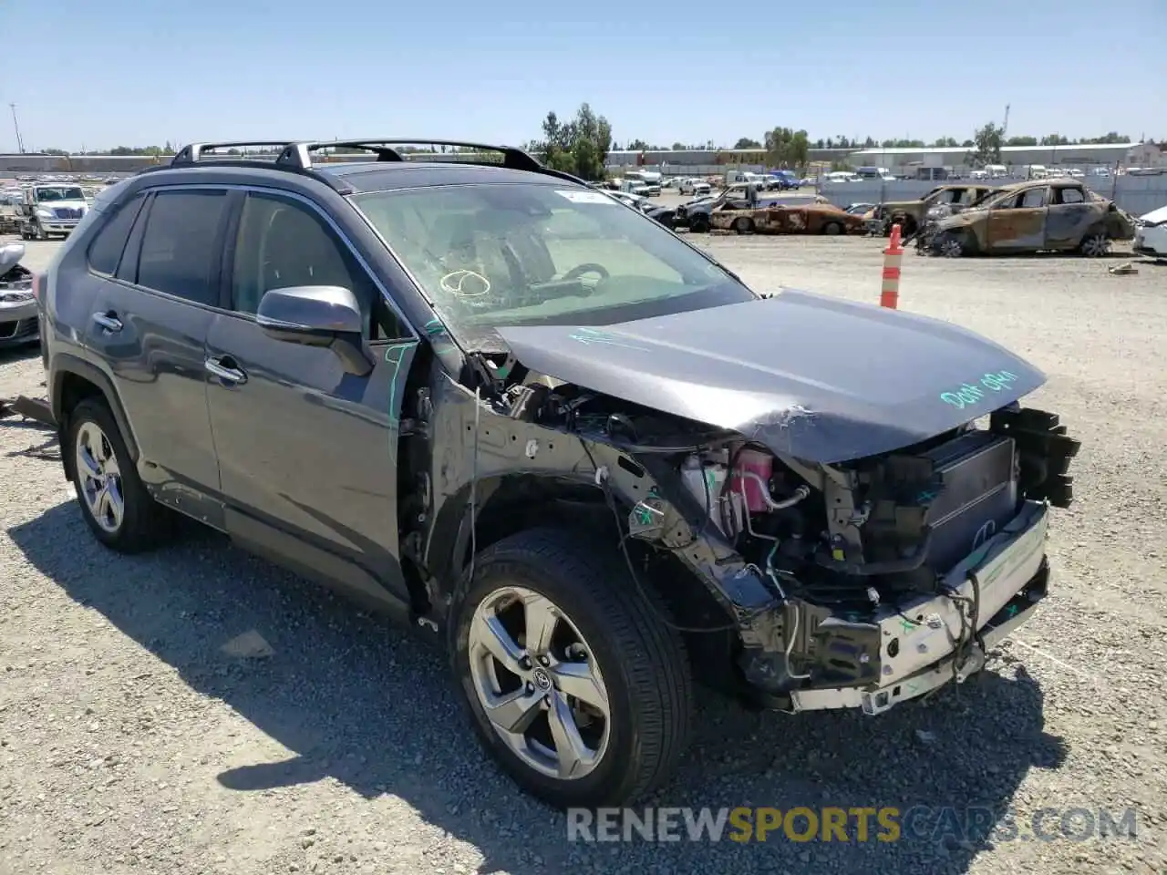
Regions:
[[[824,464],[515,373],[491,442],[530,455],[576,438],[555,464],[605,490],[636,584],[691,637],[728,617],[715,682],[762,707],[875,714],[963,681],[1046,595],[1049,508],[1070,504],[1078,449],[1055,415],[1012,404],[984,427]],[[692,582],[719,610],[682,603]]]

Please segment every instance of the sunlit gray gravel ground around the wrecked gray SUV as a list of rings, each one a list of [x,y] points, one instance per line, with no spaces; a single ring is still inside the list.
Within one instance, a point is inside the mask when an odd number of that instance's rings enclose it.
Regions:
[[[878,242],[701,245],[759,288],[879,298]],[[27,264],[51,250],[30,244]],[[1012,806],[1020,824],[1133,806],[1138,840],[568,844],[565,819],[473,743],[431,645],[212,533],[114,556],[85,531],[47,433],[6,420],[0,872],[1167,870],[1167,267],[1107,264],[904,258],[903,308],[1030,357],[1050,377],[1035,400],[1083,441],[1039,618],[977,682],[876,719],[708,696],[656,802]],[[0,396],[41,379],[35,354],[0,355]],[[250,631],[270,656],[221,651]]]

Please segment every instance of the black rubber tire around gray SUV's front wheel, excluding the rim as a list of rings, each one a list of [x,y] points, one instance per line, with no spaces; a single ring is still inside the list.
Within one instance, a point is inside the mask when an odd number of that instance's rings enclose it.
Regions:
[[[561,779],[523,762],[498,736],[475,692],[469,630],[478,604],[502,586],[546,596],[592,648],[610,702],[609,740],[595,769]],[[631,803],[666,779],[689,740],[692,678],[680,636],[662,621],[665,608],[631,584],[613,548],[560,528],[533,528],[478,554],[463,575],[450,623],[454,677],[483,746],[524,790],[559,807]]]

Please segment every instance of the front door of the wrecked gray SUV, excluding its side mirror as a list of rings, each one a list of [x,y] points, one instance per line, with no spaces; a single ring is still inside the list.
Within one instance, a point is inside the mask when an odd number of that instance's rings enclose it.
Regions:
[[[335,226],[302,201],[249,192],[230,273],[231,312],[215,317],[207,340],[228,532],[366,601],[401,607],[398,421],[417,338]],[[368,376],[256,323],[265,292],[313,285],[349,288],[361,301],[377,360]]]

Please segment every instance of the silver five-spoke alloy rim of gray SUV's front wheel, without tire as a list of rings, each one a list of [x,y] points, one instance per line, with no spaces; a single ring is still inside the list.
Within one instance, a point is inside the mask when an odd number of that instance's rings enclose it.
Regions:
[[[592,648],[550,598],[503,587],[470,623],[470,676],[498,737],[527,766],[574,780],[608,747],[612,707]]]

